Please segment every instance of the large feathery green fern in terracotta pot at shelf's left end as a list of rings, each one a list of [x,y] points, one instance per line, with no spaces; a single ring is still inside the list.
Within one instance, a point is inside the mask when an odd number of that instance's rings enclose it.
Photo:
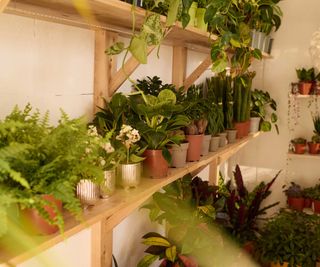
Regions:
[[[80,179],[102,181],[103,172],[92,165],[97,155],[86,155],[86,123],[71,120],[62,112],[57,126],[48,124],[48,113],[32,113],[28,104],[17,107],[0,122],[1,195],[7,199],[1,212],[1,229],[5,230],[10,206],[18,206],[32,230],[41,234],[63,231],[62,205],[80,218],[80,201],[74,189]],[[1,234],[3,234],[2,232]]]

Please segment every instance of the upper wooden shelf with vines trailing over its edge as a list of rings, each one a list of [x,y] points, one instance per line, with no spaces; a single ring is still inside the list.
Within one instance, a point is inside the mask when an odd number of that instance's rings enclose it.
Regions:
[[[132,5],[120,0],[87,0],[89,9],[83,8],[81,16],[71,0],[11,0],[5,13],[32,17],[89,29],[105,29],[128,36],[132,32]],[[136,28],[143,23],[146,11],[135,8]],[[166,18],[161,16],[164,23]],[[176,23],[165,38],[170,45],[183,45],[190,49],[207,52],[216,36],[195,27],[183,29]]]

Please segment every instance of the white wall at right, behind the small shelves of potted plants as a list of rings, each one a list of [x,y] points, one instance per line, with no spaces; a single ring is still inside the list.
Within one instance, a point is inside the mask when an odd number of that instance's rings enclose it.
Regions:
[[[307,100],[299,100],[299,125],[294,131],[288,129],[288,93],[291,82],[296,82],[296,68],[312,67],[309,44],[312,33],[320,27],[318,0],[285,0],[281,2],[284,12],[282,26],[274,34],[272,59],[257,63],[256,88],[268,90],[278,103],[280,135],[275,131],[263,136],[244,148],[238,155],[245,165],[282,169],[274,198],[284,203],[284,194],[279,187],[291,180],[303,186],[314,184],[319,176],[317,160],[287,160],[289,142],[294,137],[312,136],[313,124]],[[305,15],[302,15],[305,14]],[[292,117],[293,114],[290,114]],[[292,120],[291,120],[292,121]]]

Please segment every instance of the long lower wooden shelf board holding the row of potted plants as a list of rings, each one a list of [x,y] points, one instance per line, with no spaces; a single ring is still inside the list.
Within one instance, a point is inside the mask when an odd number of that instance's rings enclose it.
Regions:
[[[63,235],[58,233],[52,236],[32,238],[30,236],[23,237],[26,234],[21,233],[16,242],[10,237],[11,244],[14,243],[14,252],[11,253],[4,250],[5,238],[0,240],[0,247],[2,248],[0,250],[0,265],[4,262],[12,265],[19,264],[102,220],[106,220],[107,229],[111,230],[162,187],[188,173],[194,173],[202,169],[215,160],[218,164],[224,162],[259,135],[260,133],[251,134],[246,138],[238,140],[236,143],[219,149],[217,152],[209,153],[209,155],[202,157],[198,162],[188,163],[184,168],[171,168],[169,176],[166,178],[144,178],[138,188],[127,191],[117,189],[115,194],[110,198],[100,200],[95,206],[85,210],[83,223],[75,221],[72,217],[66,218],[65,233]],[[23,247],[19,244],[19,240],[25,239],[29,241],[27,246]]]

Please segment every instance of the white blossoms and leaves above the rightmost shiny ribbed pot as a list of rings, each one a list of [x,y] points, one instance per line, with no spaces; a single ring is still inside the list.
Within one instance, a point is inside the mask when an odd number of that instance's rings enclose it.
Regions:
[[[133,129],[130,125],[123,124],[116,139],[121,142],[126,150],[125,157],[121,158],[121,162],[125,161],[126,164],[129,164],[144,160],[141,155],[145,151],[145,148],[140,148],[140,146],[136,144],[140,140],[138,130]]]

